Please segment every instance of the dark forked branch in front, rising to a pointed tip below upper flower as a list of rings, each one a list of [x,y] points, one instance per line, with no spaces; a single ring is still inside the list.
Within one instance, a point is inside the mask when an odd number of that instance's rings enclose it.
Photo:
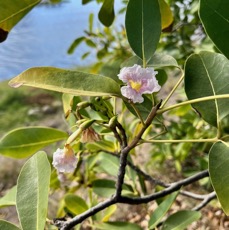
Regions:
[[[88,209],[84,213],[82,213],[78,216],[75,216],[73,219],[71,219],[69,221],[56,220],[56,222],[54,222],[54,224],[56,226],[58,226],[60,230],[70,230],[72,227],[81,223],[82,221],[84,221],[88,217],[95,215],[97,212],[111,206],[112,204],[115,204],[115,203],[126,203],[126,204],[147,203],[147,202],[153,201],[155,199],[164,197],[170,193],[173,193],[174,191],[179,190],[182,186],[191,184],[195,181],[198,181],[202,178],[209,176],[208,171],[205,170],[205,171],[197,173],[196,175],[193,175],[189,178],[186,178],[186,179],[180,180],[178,182],[172,183],[169,185],[169,187],[167,187],[167,185],[166,185],[166,188],[164,190],[157,192],[157,193],[154,193],[154,194],[151,194],[151,195],[148,195],[148,196],[144,196],[144,197],[131,198],[131,197],[126,197],[126,196],[121,195],[122,185],[124,183],[125,169],[126,169],[126,165],[128,162],[127,161],[128,153],[131,151],[131,149],[133,149],[138,144],[143,133],[145,132],[147,127],[151,124],[152,120],[156,116],[156,112],[160,108],[160,104],[161,103],[159,103],[157,106],[155,106],[152,109],[151,113],[149,114],[148,118],[146,119],[145,126],[140,130],[140,132],[134,138],[134,140],[129,145],[127,145],[126,147],[123,146],[124,148],[121,149],[120,166],[119,166],[119,172],[118,172],[117,181],[116,181],[116,193],[115,193],[115,195],[112,196],[110,199],[107,199],[107,200],[97,204],[96,206]],[[147,174],[143,173],[143,175],[145,175],[145,177],[149,179]]]

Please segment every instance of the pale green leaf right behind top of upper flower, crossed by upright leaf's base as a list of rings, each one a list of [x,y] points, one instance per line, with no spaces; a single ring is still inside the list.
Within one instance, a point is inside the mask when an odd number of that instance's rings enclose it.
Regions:
[[[134,64],[142,65],[142,60],[137,57],[133,56],[127,59],[125,62],[122,63],[121,67],[125,66],[133,66]],[[164,68],[164,67],[177,67],[180,68],[176,59],[172,56],[167,54],[154,54],[150,60],[147,62],[147,67],[153,68]]]

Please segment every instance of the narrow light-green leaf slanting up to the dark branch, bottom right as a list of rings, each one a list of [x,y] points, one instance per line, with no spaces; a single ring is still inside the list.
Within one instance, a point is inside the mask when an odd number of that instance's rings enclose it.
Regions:
[[[178,193],[179,192],[172,193],[168,196],[168,198],[166,198],[162,203],[160,203],[160,205],[157,207],[157,209],[153,212],[153,214],[150,217],[149,229],[154,229],[160,223],[161,219],[170,209]]]

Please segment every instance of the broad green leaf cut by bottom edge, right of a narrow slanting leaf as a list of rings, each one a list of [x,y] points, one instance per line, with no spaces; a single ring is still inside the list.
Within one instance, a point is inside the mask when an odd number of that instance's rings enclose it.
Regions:
[[[162,230],[182,230],[186,229],[192,222],[197,221],[201,217],[201,213],[197,211],[182,210],[178,211],[166,219],[162,226]]]

